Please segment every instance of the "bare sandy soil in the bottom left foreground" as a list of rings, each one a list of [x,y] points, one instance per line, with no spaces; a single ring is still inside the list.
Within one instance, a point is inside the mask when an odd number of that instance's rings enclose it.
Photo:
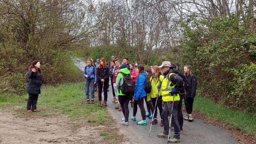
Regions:
[[[108,133],[106,137],[100,132]],[[122,142],[113,123],[91,125],[71,122],[67,115],[16,115],[0,112],[0,144],[119,144]]]

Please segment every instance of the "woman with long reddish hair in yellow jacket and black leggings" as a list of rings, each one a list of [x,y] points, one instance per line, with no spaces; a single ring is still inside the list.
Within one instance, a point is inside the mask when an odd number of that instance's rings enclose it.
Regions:
[[[150,83],[151,83],[151,92],[148,94],[147,96],[147,101],[152,101],[152,106],[153,109],[155,109],[155,114],[153,116],[153,124],[157,124],[157,107],[159,109],[159,113],[161,116],[161,124],[160,126],[163,126],[163,118],[162,118],[162,111],[163,111],[163,107],[162,107],[162,96],[161,96],[161,92],[158,90],[158,86],[159,84],[163,81],[164,76],[161,75],[161,71],[158,68],[158,66],[154,65],[151,66],[151,72],[152,72],[152,77],[150,78]],[[158,97],[158,98],[157,98]],[[157,104],[157,105],[156,105]],[[156,106],[156,107],[155,107]]]

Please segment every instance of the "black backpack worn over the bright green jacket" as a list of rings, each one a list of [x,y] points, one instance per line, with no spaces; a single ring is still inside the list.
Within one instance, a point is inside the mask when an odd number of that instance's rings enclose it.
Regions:
[[[131,74],[124,74],[122,72],[119,72],[123,75],[123,84],[120,86],[120,88],[118,89],[119,92],[121,90],[121,92],[125,95],[130,95],[133,92],[133,86],[132,86],[132,77]]]

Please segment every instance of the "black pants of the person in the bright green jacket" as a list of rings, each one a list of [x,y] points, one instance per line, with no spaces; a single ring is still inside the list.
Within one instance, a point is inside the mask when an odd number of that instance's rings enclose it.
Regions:
[[[118,96],[118,100],[119,100],[119,103],[122,107],[122,112],[124,114],[124,118],[125,118],[125,122],[128,122],[128,118],[129,118],[129,108],[128,108],[128,104],[129,104],[129,101],[130,101],[130,96],[127,96],[127,95],[119,95]]]

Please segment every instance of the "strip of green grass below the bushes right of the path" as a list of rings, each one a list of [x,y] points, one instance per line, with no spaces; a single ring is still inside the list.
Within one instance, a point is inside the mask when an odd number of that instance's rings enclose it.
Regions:
[[[201,97],[194,99],[193,110],[218,122],[225,122],[230,126],[238,127],[243,132],[256,135],[256,114],[227,109]]]

